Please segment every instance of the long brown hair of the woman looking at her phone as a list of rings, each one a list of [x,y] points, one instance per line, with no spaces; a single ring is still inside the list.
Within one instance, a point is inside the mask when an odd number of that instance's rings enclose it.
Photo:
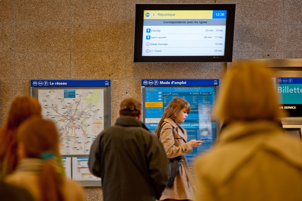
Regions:
[[[167,108],[165,109],[164,113],[162,114],[162,118],[160,119],[158,126],[155,130],[155,135],[158,136],[158,132],[160,129],[160,126],[162,126],[162,123],[164,122],[165,118],[171,118],[172,120],[175,120],[180,110],[185,108],[187,113],[191,112],[191,106],[188,101],[181,97],[175,97],[172,99],[172,101],[168,104]]]

